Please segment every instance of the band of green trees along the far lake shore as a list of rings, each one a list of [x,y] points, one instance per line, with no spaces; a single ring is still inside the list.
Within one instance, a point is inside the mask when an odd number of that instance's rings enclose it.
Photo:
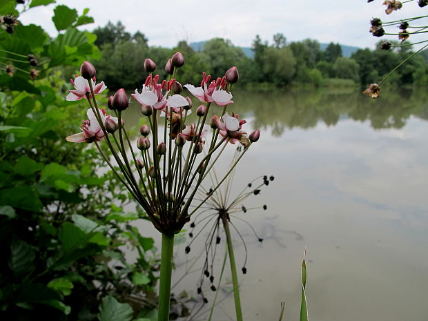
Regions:
[[[358,49],[351,57],[342,55],[339,43],[329,43],[324,50],[313,39],[288,42],[282,33],[273,35],[271,42],[255,36],[251,50],[253,57],[227,39],[214,38],[195,50],[186,41],[179,41],[175,48],[148,46],[142,32],[134,35],[125,30],[121,22],[108,22],[93,30],[95,44],[101,50],[99,61],[93,61],[97,75],[109,84],[110,89],[119,86],[139,88],[146,79],[144,59],[157,64],[156,73],[166,76],[166,61],[176,51],[181,51],[186,64],[179,72],[182,84],[198,84],[202,71],[212,77],[222,77],[231,66],[240,72],[240,84],[246,88],[284,88],[320,86],[365,87],[382,79],[391,69],[408,57],[411,46],[394,50]],[[397,44],[397,43],[396,43]],[[425,55],[416,55],[389,77],[390,86],[426,86],[428,67]]]

